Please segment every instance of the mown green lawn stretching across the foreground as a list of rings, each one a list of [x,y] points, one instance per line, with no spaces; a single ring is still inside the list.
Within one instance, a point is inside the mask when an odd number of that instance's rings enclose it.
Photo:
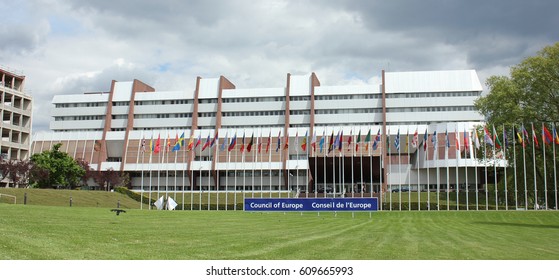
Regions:
[[[0,259],[559,259],[556,211],[109,209],[0,203]]]

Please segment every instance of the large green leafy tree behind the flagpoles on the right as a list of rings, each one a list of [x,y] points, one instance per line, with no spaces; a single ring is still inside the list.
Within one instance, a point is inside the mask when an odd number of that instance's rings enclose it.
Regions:
[[[510,77],[491,76],[487,79],[486,84],[489,93],[480,97],[475,106],[478,111],[485,116],[487,127],[496,127],[499,138],[503,139],[503,129],[506,131],[508,141],[516,141],[516,162],[513,162],[512,144],[505,145],[508,160],[509,172],[507,178],[500,177],[498,188],[502,190],[500,197],[504,197],[504,182],[506,181],[509,201],[513,200],[514,174],[511,167],[516,164],[518,167],[525,167],[528,171],[524,174],[517,174],[518,178],[526,178],[528,182],[537,182],[536,189],[534,187],[527,188],[529,204],[535,203],[535,191],[537,191],[537,199],[543,200],[545,193],[544,185],[548,186],[548,207],[554,207],[554,194],[549,186],[555,184],[553,172],[553,160],[558,161],[553,156],[553,142],[545,145],[542,139],[542,126],[546,126],[550,131],[559,121],[559,43],[552,46],[544,47],[536,56],[524,59],[518,65],[511,67]],[[532,148],[534,145],[532,139],[532,126],[534,133],[539,140],[539,148]],[[527,138],[531,142],[526,148],[523,148],[517,139],[514,139],[519,133],[522,135],[522,127],[528,132]],[[493,131],[490,131],[491,133]],[[526,144],[527,141],[525,141]],[[505,143],[503,143],[505,144]],[[502,152],[497,150],[497,152]],[[544,153],[546,160],[544,162]],[[522,155],[522,156],[521,156]],[[523,157],[528,159],[523,160]],[[546,164],[547,163],[547,164]],[[545,166],[545,169],[544,169]],[[517,169],[517,172],[520,173]],[[534,170],[534,171],[532,171]],[[532,172],[530,172],[532,171]],[[519,190],[519,195],[523,196],[523,189]],[[541,203],[538,202],[538,203]]]

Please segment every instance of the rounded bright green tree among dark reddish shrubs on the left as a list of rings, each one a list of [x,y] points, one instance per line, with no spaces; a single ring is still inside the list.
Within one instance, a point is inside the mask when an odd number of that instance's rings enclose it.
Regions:
[[[31,171],[30,184],[39,188],[64,187],[79,185],[85,170],[67,153],[60,151],[58,143],[51,150],[31,156],[34,167]]]

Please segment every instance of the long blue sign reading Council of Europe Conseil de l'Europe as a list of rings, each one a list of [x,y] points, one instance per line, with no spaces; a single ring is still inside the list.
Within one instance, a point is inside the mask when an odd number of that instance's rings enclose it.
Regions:
[[[377,211],[377,198],[245,198],[245,211]]]

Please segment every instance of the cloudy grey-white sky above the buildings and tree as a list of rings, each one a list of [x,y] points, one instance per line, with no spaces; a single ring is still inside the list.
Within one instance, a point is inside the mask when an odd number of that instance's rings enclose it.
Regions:
[[[0,0],[0,66],[25,75],[34,131],[58,94],[111,80],[194,90],[376,84],[381,70],[475,69],[481,82],[559,41],[559,1]]]

